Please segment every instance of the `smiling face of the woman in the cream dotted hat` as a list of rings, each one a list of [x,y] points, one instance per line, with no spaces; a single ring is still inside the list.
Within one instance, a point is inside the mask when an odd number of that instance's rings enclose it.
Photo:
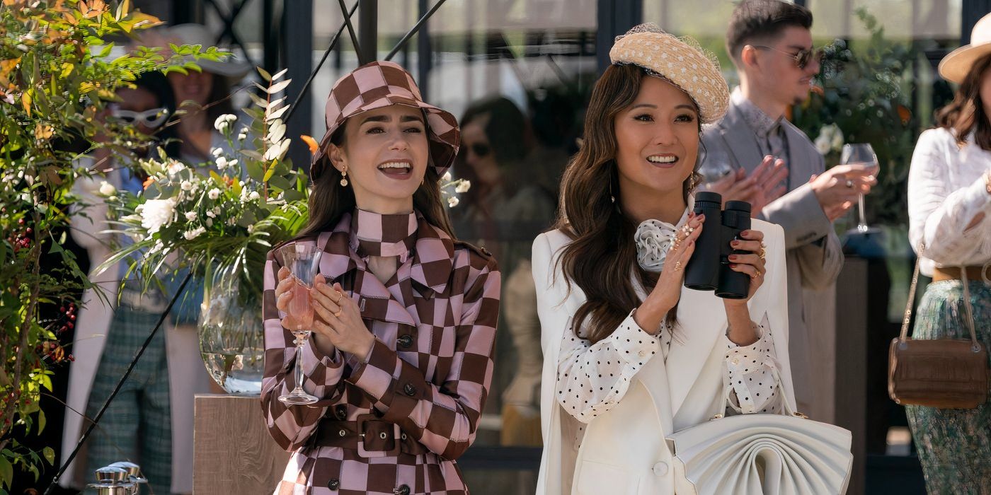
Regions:
[[[633,104],[615,116],[614,125],[623,203],[681,198],[699,155],[699,111],[688,94],[645,76]]]

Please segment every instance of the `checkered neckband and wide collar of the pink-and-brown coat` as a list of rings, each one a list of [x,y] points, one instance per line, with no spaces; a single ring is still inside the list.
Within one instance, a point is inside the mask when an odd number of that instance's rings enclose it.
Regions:
[[[356,209],[344,214],[333,231],[321,235],[320,241],[325,253],[321,272],[334,280],[354,269],[368,271],[365,259],[370,255],[398,255],[400,281],[406,272],[406,261],[411,261],[408,278],[421,289],[444,292],[454,269],[454,240],[416,211],[379,215]]]

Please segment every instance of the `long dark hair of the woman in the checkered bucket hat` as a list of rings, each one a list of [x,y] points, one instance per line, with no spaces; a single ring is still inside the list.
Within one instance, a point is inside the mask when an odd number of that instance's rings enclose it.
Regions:
[[[347,125],[346,122],[331,136],[332,144],[338,147],[344,145],[344,129]],[[342,215],[351,213],[355,209],[357,205],[355,190],[340,185],[340,172],[334,173],[336,170],[328,166],[313,183],[309,197],[309,222],[297,239],[332,230],[340,222]],[[444,231],[451,239],[457,240],[454,228],[451,227],[451,218],[448,217],[447,208],[444,207],[441,198],[439,181],[440,174],[437,173],[437,167],[430,158],[423,183],[413,193],[413,209],[423,215],[428,224]]]

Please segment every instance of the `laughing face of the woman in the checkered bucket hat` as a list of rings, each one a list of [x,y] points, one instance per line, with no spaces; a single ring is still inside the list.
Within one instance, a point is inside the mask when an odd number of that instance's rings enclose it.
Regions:
[[[349,118],[344,142],[330,145],[329,155],[338,171],[347,166],[358,207],[388,214],[412,211],[428,153],[423,113],[391,105]]]

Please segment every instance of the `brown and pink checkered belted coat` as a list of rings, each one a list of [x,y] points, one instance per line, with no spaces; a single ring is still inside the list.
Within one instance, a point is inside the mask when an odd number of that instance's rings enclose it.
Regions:
[[[262,407],[275,442],[293,451],[275,493],[468,493],[455,459],[475,439],[492,383],[495,259],[417,213],[355,210],[297,243],[322,247],[320,273],[341,283],[377,339],[367,361],[307,345],[302,385],[321,400],[279,402],[295,386],[295,350],[275,309],[280,266],[270,252]],[[370,255],[398,256],[385,284],[369,271]]]

